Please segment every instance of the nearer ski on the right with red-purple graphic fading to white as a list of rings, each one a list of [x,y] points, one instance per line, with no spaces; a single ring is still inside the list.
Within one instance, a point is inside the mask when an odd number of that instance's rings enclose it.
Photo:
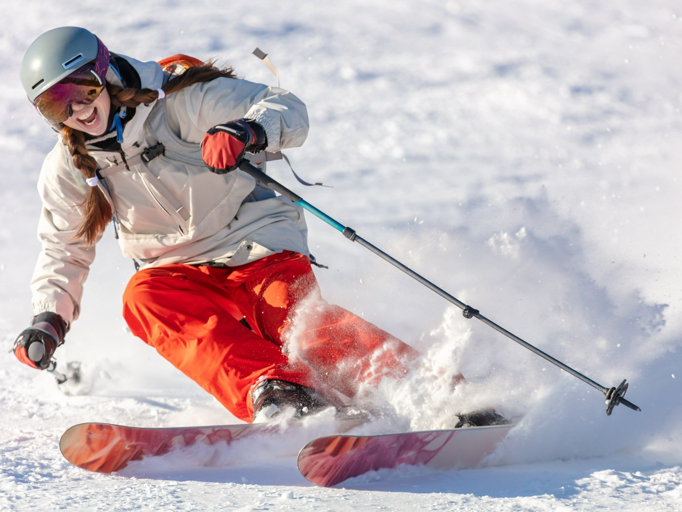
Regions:
[[[303,446],[298,468],[308,481],[331,487],[371,470],[401,464],[473,468],[514,425],[403,432],[379,436],[325,436]]]

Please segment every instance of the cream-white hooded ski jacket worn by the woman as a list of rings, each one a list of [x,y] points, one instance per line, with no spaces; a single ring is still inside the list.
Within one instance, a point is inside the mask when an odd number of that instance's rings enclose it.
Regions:
[[[156,89],[168,79],[158,63],[125,59],[143,87]],[[199,143],[206,130],[242,117],[265,128],[269,152],[299,146],[308,134],[306,106],[293,94],[221,78],[140,105],[125,124],[123,155],[88,147],[104,177],[98,186],[113,205],[125,257],[142,260],[146,268],[207,261],[236,266],[284,250],[308,255],[306,222],[298,205],[256,186],[246,173],[218,175],[203,163]],[[158,143],[164,154],[140,160]],[[38,226],[42,251],[31,281],[35,315],[52,311],[69,323],[78,317],[83,283],[95,258],[94,246],[73,239],[88,189],[60,137],[38,180],[43,208]]]

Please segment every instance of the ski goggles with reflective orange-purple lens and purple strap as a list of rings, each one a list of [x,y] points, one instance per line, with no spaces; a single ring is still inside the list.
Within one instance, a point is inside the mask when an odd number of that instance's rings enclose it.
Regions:
[[[98,39],[97,42],[97,57],[93,61],[65,76],[35,98],[35,108],[48,122],[65,122],[74,114],[72,104],[91,104],[102,93],[109,68],[109,51],[102,41]],[[68,63],[63,63],[62,66],[67,67]]]

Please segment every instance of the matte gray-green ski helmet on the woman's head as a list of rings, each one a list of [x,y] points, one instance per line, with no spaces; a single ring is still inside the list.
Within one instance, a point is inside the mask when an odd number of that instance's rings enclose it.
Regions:
[[[38,36],[19,70],[21,85],[31,103],[35,104],[35,98],[55,83],[97,59],[99,45],[95,34],[79,27],[59,27]]]

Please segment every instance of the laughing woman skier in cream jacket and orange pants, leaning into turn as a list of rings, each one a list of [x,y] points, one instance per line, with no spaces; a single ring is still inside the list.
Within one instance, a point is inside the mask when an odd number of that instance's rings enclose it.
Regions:
[[[21,362],[50,366],[113,219],[139,267],[123,295],[130,330],[238,418],[310,414],[406,373],[409,345],[321,298],[303,210],[237,169],[303,144],[308,115],[293,94],[211,63],[173,73],[76,27],[40,35],[20,75],[59,132],[38,180],[42,251]],[[295,349],[283,350],[294,324]]]

